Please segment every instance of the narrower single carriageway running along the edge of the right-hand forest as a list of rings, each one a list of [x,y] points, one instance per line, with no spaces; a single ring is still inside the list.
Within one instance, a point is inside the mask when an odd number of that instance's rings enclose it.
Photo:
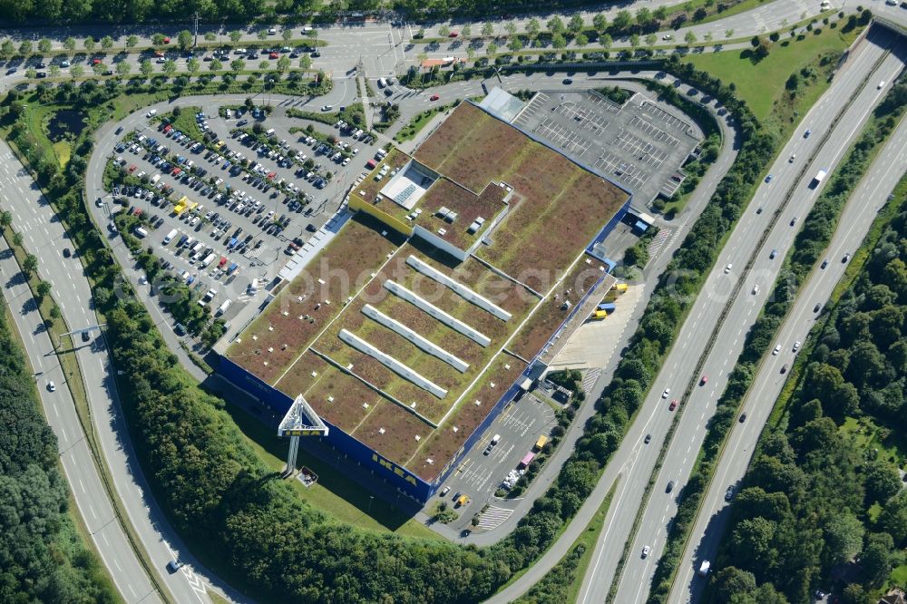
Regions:
[[[734,424],[728,435],[724,454],[703,498],[668,602],[681,604],[699,599],[705,581],[698,580],[695,571],[702,560],[715,560],[718,543],[729,520],[729,504],[725,502],[725,492],[729,485],[738,485],[746,473],[759,434],[762,433],[787,379],[787,375],[781,373],[781,367],[793,366],[794,342],[806,341],[818,317],[813,308],[816,304],[824,306],[831,296],[847,268],[847,264],[842,262],[844,254],[853,254],[860,247],[876,212],[882,208],[888,195],[902,178],[904,170],[907,170],[907,120],[902,119],[848,200],[838,221],[838,229],[824,255],[828,259],[828,266],[814,269],[805,286],[800,289],[785,323],[780,327],[776,342],[782,346],[781,354],[766,355],[754,377],[753,385],[741,407],[748,419],[744,424]]]

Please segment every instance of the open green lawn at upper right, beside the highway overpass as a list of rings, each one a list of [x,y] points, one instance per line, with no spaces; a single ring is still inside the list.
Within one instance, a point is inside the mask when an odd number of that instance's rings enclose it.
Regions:
[[[751,48],[694,54],[684,57],[683,61],[693,63],[697,69],[711,73],[723,83],[733,83],[737,96],[746,101],[757,118],[766,120],[775,101],[785,94],[785,83],[791,73],[813,63],[816,57],[841,53],[853,43],[857,34],[858,28],[842,34],[840,29],[823,27],[801,36],[802,39],[786,38],[772,44],[768,56],[758,62],[751,58]],[[829,85],[820,81],[810,86],[809,91],[798,98],[797,104],[811,107]],[[766,94],[766,91],[777,92]]]

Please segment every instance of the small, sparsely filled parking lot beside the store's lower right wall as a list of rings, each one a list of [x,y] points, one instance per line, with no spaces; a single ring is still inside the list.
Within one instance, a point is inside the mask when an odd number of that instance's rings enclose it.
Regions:
[[[512,513],[510,502],[494,498],[494,492],[508,472],[516,470],[526,453],[532,451],[539,436],[551,433],[554,424],[554,410],[532,394],[524,395],[494,420],[438,492],[439,498],[452,505],[460,495],[470,498],[469,503],[457,509],[460,518],[453,523],[454,528],[472,528],[473,514],[482,511],[485,503],[491,507],[483,514],[481,528],[490,531],[507,519]],[[488,449],[495,434],[500,439]],[[441,495],[446,487],[448,491]]]

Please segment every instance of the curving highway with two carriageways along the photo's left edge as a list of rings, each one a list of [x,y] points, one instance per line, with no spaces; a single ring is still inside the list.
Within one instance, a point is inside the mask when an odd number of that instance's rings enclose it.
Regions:
[[[63,229],[63,224],[57,219],[54,209],[37,190],[31,176],[5,141],[0,142],[0,156],[4,158],[3,166],[0,168],[2,172],[0,195],[3,197],[3,208],[12,211],[13,228],[23,234],[24,248],[38,257],[38,273],[41,278],[51,283],[51,295],[60,307],[63,318],[71,330],[96,326],[98,320],[92,307],[88,279],[85,277],[81,260],[74,253],[73,243]],[[73,251],[72,258],[63,257],[63,248],[70,248]],[[164,518],[157,503],[148,494],[148,484],[132,450],[122,416],[119,395],[112,378],[110,357],[103,337],[99,335],[98,330],[94,330],[87,343],[83,343],[78,336],[74,339],[75,350],[63,354],[75,354],[78,358],[91,407],[93,429],[101,445],[101,453],[106,459],[115,492],[127,511],[127,521],[132,523],[141,544],[151,558],[152,571],[157,573],[157,580],[166,585],[175,601],[207,604],[208,598],[204,595],[206,584],[210,584],[213,577],[191,557]],[[44,355],[49,350],[50,348],[45,347],[41,354]],[[52,357],[44,358],[45,363],[48,363]],[[63,379],[56,382],[60,386],[55,393],[60,395],[58,410],[63,413],[65,409],[71,413],[62,425],[67,426],[67,430],[70,427],[77,430],[79,423],[75,407],[68,398],[68,391],[62,387]],[[48,419],[52,419],[52,414],[47,415]],[[62,449],[66,446],[65,443],[66,441],[61,439]],[[87,451],[84,440],[79,440],[79,443],[79,448]],[[91,529],[102,526],[100,522],[103,521],[110,522],[111,527],[120,531],[119,524],[112,521],[112,511],[107,514],[99,511],[103,509],[101,500],[106,502],[107,509],[110,508],[110,502],[106,499],[107,493],[99,482],[100,478],[90,458],[80,462],[78,465],[83,472],[92,472],[94,475],[93,482],[83,480],[84,485],[78,481],[70,481],[70,490],[79,504],[80,511],[83,512],[83,518]],[[92,484],[93,486],[90,486]],[[95,514],[99,520],[95,520]],[[110,535],[107,537],[108,540],[111,539]],[[128,545],[109,545],[107,541],[97,540],[95,542],[102,551],[102,559],[108,564],[112,576],[118,580],[117,586],[121,588],[123,597],[130,601],[139,601],[145,597],[150,591],[150,581],[133,550]],[[186,562],[186,565],[177,573],[168,573],[165,568],[167,562],[177,557]],[[204,576],[196,572],[204,573]],[[226,586],[219,585],[219,589],[231,599],[242,599],[238,593]],[[137,594],[135,599],[132,599],[133,590]]]

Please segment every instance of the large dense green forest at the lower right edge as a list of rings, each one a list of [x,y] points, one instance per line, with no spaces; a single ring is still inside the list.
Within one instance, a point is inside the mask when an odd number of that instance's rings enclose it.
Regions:
[[[901,209],[813,335],[803,380],[731,507],[713,601],[800,603],[833,590],[842,604],[874,604],[903,584],[905,238]]]

